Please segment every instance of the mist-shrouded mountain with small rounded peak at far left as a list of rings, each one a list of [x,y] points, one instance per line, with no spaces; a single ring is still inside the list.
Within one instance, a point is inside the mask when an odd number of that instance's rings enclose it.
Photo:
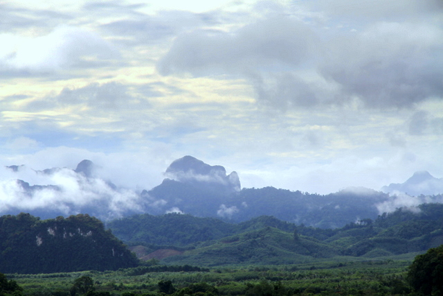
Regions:
[[[87,213],[102,220],[149,211],[150,204],[134,191],[119,189],[97,175],[97,166],[84,159],[75,170],[46,168],[34,171],[26,166],[7,166],[17,179],[1,180],[8,189],[0,198],[0,214],[29,212],[40,218]],[[32,184],[19,176],[29,177]],[[3,192],[6,190],[3,189]]]

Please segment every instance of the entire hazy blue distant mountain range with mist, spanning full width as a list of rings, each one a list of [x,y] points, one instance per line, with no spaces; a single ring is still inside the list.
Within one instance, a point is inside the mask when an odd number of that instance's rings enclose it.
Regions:
[[[0,180],[0,214],[26,211],[41,218],[87,213],[109,221],[134,214],[179,213],[239,223],[272,215],[327,229],[363,218],[375,219],[406,204],[416,207],[424,202],[443,202],[443,195],[405,199],[356,187],[327,195],[273,187],[241,189],[235,171],[227,174],[223,166],[206,164],[190,155],[174,160],[166,168],[163,182],[143,191],[118,187],[103,179],[100,168],[89,159],[82,160],[75,169],[34,171],[26,166],[8,166],[6,173],[17,178]],[[417,173],[404,184],[387,186],[386,192],[435,192],[443,188],[442,182],[428,173]]]

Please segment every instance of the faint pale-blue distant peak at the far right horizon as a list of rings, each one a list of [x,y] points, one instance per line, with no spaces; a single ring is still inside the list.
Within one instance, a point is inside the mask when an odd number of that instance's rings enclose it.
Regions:
[[[406,182],[383,186],[381,191],[386,193],[401,192],[411,196],[437,195],[443,193],[443,178],[438,179],[427,171],[419,171],[414,173]]]

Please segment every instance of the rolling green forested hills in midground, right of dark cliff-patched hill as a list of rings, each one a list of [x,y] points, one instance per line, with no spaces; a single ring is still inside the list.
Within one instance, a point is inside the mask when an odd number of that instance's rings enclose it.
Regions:
[[[443,204],[397,209],[375,220],[321,229],[261,216],[243,223],[182,214],[138,215],[108,227],[145,259],[174,264],[278,264],[315,258],[415,256],[443,244]],[[175,250],[177,252],[170,252]],[[164,256],[168,253],[168,257]],[[161,254],[157,256],[156,254]]]

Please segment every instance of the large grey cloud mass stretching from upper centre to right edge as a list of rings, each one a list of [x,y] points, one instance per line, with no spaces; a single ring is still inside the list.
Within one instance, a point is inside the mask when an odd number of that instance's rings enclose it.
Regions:
[[[280,16],[231,31],[183,33],[157,69],[239,75],[259,103],[282,110],[356,101],[372,109],[414,107],[442,98],[442,40],[433,23],[372,21],[350,33]]]

